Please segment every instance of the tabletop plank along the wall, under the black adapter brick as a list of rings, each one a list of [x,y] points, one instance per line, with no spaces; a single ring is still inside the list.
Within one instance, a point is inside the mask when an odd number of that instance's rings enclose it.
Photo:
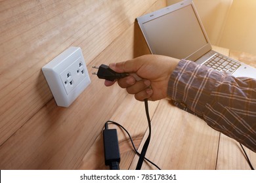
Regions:
[[[149,102],[150,118],[154,116],[158,103],[159,101]],[[123,127],[129,131],[131,137],[133,137],[135,146],[138,148],[142,138],[144,137],[146,129],[148,128],[146,114],[144,111],[144,103],[135,100],[133,95],[127,95],[125,99],[123,99],[123,104],[125,105],[120,105],[116,112],[114,112],[113,116],[111,116],[110,120],[123,125]],[[102,129],[103,127],[104,125],[102,125]],[[108,125],[108,127],[110,129],[117,129],[121,156],[120,169],[129,169],[131,161],[135,156],[131,141],[127,133],[125,133],[125,131],[120,127],[113,124]],[[100,131],[98,138],[81,161],[78,169],[108,169],[108,167],[104,165],[102,138],[102,133]]]

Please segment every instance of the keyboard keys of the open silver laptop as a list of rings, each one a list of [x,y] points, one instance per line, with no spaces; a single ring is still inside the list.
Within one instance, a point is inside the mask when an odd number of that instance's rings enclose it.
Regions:
[[[207,67],[212,67],[217,71],[226,72],[230,74],[234,73],[234,71],[236,71],[236,69],[238,69],[238,67],[241,66],[241,64],[237,61],[226,58],[219,54],[215,54],[215,56],[205,61],[203,65],[206,65]]]

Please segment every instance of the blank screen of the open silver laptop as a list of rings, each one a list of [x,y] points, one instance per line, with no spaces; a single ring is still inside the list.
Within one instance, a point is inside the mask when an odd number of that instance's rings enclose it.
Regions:
[[[188,58],[209,44],[192,5],[150,16],[138,21],[152,54]]]

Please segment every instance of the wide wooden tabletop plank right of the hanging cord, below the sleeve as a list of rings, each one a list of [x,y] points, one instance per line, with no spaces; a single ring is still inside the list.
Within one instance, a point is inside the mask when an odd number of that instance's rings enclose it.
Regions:
[[[162,99],[152,118],[152,137],[146,157],[161,169],[215,169],[218,144],[219,132]],[[135,156],[130,169],[135,169],[138,159]],[[142,169],[156,168],[143,163]]]

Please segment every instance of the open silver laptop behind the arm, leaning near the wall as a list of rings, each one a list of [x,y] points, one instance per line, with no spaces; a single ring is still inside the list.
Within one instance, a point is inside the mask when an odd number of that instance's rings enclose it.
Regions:
[[[256,78],[256,69],[212,50],[192,0],[137,18],[152,54],[189,59],[236,77]]]

